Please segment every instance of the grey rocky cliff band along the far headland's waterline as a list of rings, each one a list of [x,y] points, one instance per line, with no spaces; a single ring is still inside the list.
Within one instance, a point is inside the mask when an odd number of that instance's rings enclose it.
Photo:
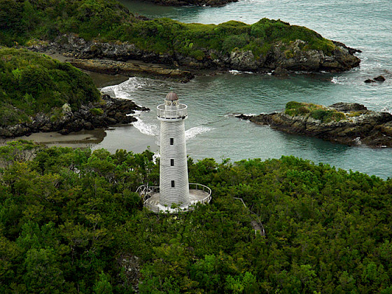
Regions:
[[[229,53],[204,49],[199,59],[182,55],[179,52],[154,53],[141,50],[130,43],[103,43],[85,41],[76,35],[62,35],[53,43],[34,45],[30,50],[57,50],[67,56],[79,59],[111,59],[127,61],[142,60],[155,64],[168,64],[186,69],[237,69],[239,71],[346,71],[356,67],[360,59],[353,55],[359,50],[348,48],[335,42],[335,49],[330,55],[322,50],[306,49],[308,44],[302,40],[275,43],[266,55],[255,56],[251,50],[234,50]]]

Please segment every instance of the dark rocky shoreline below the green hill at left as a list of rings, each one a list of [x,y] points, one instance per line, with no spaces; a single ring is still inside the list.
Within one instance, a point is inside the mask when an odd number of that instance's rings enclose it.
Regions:
[[[131,100],[111,98],[105,94],[101,102],[82,105],[77,111],[71,111],[69,105],[64,104],[62,113],[58,117],[38,113],[31,118],[30,123],[0,127],[0,137],[14,138],[36,132],[69,134],[83,129],[94,130],[112,125],[124,125],[137,120],[129,114],[147,110]]]

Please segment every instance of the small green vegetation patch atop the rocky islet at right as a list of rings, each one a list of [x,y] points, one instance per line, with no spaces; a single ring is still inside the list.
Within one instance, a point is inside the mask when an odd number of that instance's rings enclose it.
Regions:
[[[321,120],[322,123],[338,122],[346,119],[344,113],[335,109],[327,109],[322,105],[295,101],[286,104],[285,113],[288,116],[311,116],[315,120]]]

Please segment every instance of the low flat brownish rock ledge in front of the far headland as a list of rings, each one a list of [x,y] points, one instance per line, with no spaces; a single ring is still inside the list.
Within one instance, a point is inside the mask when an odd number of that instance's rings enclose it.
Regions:
[[[99,73],[122,74],[123,76],[160,76],[174,78],[182,82],[188,82],[193,78],[190,71],[180,69],[167,69],[154,64],[139,64],[135,62],[118,62],[108,59],[73,59],[73,66],[87,71]]]

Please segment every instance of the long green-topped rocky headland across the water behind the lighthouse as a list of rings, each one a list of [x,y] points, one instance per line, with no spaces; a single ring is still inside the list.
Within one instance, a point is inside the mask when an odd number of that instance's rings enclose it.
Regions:
[[[62,2],[62,8],[35,1],[13,6],[0,7],[6,15],[6,22],[0,23],[1,43],[15,45],[18,40],[31,50],[55,50],[79,59],[135,59],[169,69],[280,74],[346,71],[360,63],[354,55],[359,50],[281,20],[263,18],[253,25],[237,21],[202,25],[169,18],[148,20],[133,15],[115,0]],[[97,67],[103,70],[102,64]],[[90,66],[90,70],[97,67]]]

